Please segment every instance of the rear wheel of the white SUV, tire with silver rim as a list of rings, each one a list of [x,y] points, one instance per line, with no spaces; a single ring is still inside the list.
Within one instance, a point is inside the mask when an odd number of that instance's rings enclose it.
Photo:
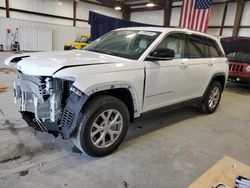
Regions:
[[[209,86],[207,93],[201,103],[200,110],[203,113],[211,114],[215,112],[217,109],[222,93],[222,86],[220,82],[213,81],[213,83]]]

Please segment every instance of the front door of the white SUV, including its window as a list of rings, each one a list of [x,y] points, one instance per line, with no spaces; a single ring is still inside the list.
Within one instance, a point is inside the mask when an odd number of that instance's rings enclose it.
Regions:
[[[164,61],[145,61],[146,82],[143,112],[175,104],[184,100],[188,80],[184,79],[188,69],[187,45],[182,33],[168,35],[156,47],[168,48],[175,57]]]

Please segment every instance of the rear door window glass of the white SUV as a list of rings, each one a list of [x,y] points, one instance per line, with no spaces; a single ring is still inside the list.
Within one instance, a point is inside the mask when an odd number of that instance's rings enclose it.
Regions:
[[[205,49],[204,38],[198,35],[188,35],[189,58],[208,57],[208,51]]]

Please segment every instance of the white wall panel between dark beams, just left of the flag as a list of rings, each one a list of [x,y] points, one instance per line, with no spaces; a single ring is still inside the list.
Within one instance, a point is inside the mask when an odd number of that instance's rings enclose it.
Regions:
[[[147,12],[132,12],[131,21],[152,25],[163,25],[164,12],[162,10]]]

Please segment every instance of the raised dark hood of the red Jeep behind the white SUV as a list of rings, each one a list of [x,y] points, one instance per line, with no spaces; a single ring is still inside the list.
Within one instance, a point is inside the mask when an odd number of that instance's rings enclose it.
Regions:
[[[228,37],[222,38],[221,44],[227,54],[232,52],[250,53],[250,38],[249,37]]]

